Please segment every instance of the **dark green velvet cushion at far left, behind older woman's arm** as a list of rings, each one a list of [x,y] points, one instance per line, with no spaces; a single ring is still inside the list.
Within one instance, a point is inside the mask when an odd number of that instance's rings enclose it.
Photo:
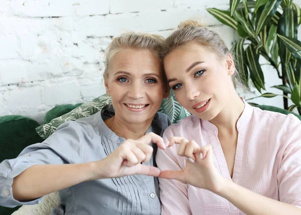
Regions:
[[[39,123],[24,116],[10,115],[0,117],[0,162],[17,157],[28,145],[42,142],[36,133]],[[10,215],[19,207],[7,208],[0,206],[1,215]]]

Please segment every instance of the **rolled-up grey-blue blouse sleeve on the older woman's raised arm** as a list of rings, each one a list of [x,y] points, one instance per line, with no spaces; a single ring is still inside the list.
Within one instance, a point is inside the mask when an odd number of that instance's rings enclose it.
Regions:
[[[26,147],[15,159],[0,163],[0,205],[15,207],[22,204],[37,204],[42,198],[20,202],[13,196],[12,184],[16,176],[37,164],[80,163],[83,153],[82,143],[87,138],[83,127],[68,121],[60,125],[56,132],[42,143]]]

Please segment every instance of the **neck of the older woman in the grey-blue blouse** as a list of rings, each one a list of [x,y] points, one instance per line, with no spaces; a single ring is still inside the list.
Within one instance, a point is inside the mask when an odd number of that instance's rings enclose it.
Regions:
[[[143,123],[124,123],[121,122],[116,115],[105,120],[104,123],[117,136],[125,139],[138,139],[142,137],[152,124],[152,122],[148,121]]]

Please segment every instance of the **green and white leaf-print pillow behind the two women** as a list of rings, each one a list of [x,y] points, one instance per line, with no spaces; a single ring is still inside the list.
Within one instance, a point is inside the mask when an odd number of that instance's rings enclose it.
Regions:
[[[74,121],[82,117],[91,116],[100,111],[105,105],[111,103],[111,97],[104,94],[100,97],[93,99],[90,102],[78,106],[69,113],[66,113],[60,117],[51,120],[47,124],[37,127],[36,131],[43,139],[46,139],[53,132],[56,131],[57,127],[60,124],[68,120]],[[172,123],[178,123],[181,119],[190,115],[190,113],[178,103],[175,94],[172,90],[169,97],[167,99],[163,99],[159,111],[167,114],[171,119]]]

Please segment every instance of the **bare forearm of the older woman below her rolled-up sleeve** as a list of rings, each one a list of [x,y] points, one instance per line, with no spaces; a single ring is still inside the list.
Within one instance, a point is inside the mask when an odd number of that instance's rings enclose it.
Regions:
[[[93,163],[34,165],[14,178],[14,198],[28,201],[91,180]]]

